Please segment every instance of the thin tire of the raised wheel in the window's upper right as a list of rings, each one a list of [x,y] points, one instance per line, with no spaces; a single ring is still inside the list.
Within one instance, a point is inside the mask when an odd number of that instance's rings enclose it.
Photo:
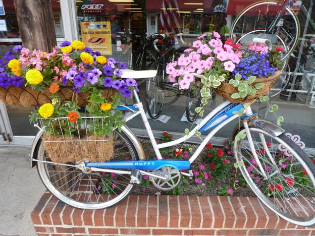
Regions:
[[[233,38],[233,35],[235,34],[235,26],[237,25],[238,21],[241,19],[242,16],[244,16],[247,12],[252,10],[254,7],[258,7],[258,6],[261,6],[261,5],[267,5],[267,4],[269,4],[269,5],[277,5],[277,4],[280,4],[280,2],[261,1],[261,2],[257,2],[257,3],[249,5],[233,21],[232,26],[231,26],[231,31],[230,31],[230,38]],[[282,61],[286,60],[288,58],[288,56],[290,56],[290,54],[293,52],[293,50],[297,46],[298,39],[299,39],[299,36],[300,36],[300,23],[299,23],[299,20],[298,20],[296,14],[293,11],[291,11],[290,8],[288,8],[288,7],[286,8],[286,11],[294,19],[294,24],[295,24],[295,27],[296,27],[296,31],[295,31],[294,43],[293,43],[292,47],[286,52],[286,54],[284,56],[282,56],[282,58],[281,58]],[[265,29],[258,29],[258,31],[266,32],[266,28]],[[248,30],[247,32],[248,33],[246,33],[246,35],[254,33],[254,32],[256,32],[256,30]],[[244,37],[244,36],[242,36],[242,37]],[[280,38],[278,35],[277,35],[277,37]],[[239,39],[236,40],[236,43],[239,42],[239,41],[240,41]],[[283,42],[283,40],[281,40],[281,41]],[[286,47],[284,47],[284,49],[286,49]]]

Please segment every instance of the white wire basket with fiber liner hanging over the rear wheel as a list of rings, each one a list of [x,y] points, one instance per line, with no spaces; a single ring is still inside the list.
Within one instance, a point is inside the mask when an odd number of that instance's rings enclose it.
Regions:
[[[112,158],[113,136],[104,128],[107,117],[84,116],[76,122],[68,117],[40,120],[45,151],[53,162],[104,162]]]

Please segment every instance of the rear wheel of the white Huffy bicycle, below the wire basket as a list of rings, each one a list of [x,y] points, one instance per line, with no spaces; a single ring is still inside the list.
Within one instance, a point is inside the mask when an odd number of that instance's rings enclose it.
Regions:
[[[113,132],[114,155],[111,160],[138,160],[138,153],[126,134]],[[37,151],[37,170],[51,194],[73,207],[102,209],[118,204],[133,189],[129,174],[91,172],[49,162],[44,142]],[[69,162],[75,165],[77,163]]]

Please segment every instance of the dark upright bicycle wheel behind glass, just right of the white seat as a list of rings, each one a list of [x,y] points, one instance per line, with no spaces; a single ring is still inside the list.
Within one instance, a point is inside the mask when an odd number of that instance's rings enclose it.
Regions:
[[[156,70],[156,76],[146,80],[145,105],[148,115],[152,120],[158,119],[164,104],[163,77],[166,76],[163,65],[156,61],[149,70]]]

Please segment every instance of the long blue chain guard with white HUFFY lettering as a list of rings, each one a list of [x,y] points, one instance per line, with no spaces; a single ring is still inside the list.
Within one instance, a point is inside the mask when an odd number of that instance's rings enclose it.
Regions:
[[[178,170],[189,169],[190,162],[187,160],[137,160],[137,161],[106,161],[85,162],[86,167],[113,168],[113,169],[142,169],[155,170],[165,166],[171,166]]]

